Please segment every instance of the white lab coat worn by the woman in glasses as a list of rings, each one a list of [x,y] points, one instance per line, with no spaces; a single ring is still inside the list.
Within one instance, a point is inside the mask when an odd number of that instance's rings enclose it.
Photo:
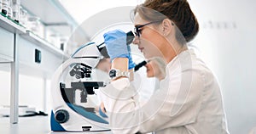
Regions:
[[[134,99],[137,91],[127,78],[101,92],[113,133],[229,133],[218,81],[193,50],[166,65],[160,89],[144,105]]]

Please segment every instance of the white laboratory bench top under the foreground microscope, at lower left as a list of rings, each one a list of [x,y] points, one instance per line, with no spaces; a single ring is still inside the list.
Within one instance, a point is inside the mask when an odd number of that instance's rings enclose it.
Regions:
[[[1,134],[111,134],[111,131],[101,132],[65,132],[50,131],[49,116],[20,117],[18,124],[9,123],[9,118],[0,117]]]

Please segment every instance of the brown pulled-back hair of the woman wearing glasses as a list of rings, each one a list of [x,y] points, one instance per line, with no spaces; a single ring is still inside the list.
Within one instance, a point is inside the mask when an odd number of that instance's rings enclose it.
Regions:
[[[151,11],[145,8],[150,8]],[[164,20],[166,17],[172,20],[186,42],[193,40],[199,31],[198,21],[187,0],[146,0],[135,8],[134,14],[137,12],[144,20]],[[176,34],[176,38],[180,42],[181,36]]]

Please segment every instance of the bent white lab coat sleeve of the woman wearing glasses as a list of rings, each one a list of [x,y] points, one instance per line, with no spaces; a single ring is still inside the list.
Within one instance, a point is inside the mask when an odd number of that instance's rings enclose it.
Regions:
[[[102,90],[112,131],[159,131],[194,123],[201,109],[203,81],[201,72],[192,69],[167,75],[143,106],[134,99],[137,93],[128,80],[114,81]]]

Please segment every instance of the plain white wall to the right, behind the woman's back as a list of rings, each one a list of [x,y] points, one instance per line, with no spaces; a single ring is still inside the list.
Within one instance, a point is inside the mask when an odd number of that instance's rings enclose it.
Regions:
[[[201,24],[194,45],[218,77],[231,134],[256,126],[256,2],[189,0]]]

